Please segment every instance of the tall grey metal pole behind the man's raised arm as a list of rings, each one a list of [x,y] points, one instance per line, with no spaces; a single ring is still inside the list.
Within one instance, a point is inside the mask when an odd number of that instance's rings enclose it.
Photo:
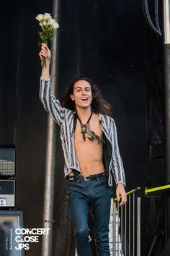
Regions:
[[[53,0],[52,17],[58,22],[59,0]],[[51,46],[52,59],[50,63],[50,76],[52,80],[52,92],[56,95],[58,85],[58,35],[57,30],[53,33],[53,44]],[[53,248],[53,200],[54,200],[54,181],[55,181],[55,140],[56,124],[48,116],[46,157],[45,157],[45,192],[43,208],[43,228],[50,229],[48,235],[42,236],[42,256],[52,256]]]

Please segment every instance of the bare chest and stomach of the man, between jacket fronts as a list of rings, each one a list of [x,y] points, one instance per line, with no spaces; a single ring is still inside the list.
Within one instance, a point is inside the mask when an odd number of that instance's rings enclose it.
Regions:
[[[99,116],[93,114],[89,121],[90,129],[96,135],[102,137],[102,129],[99,126]],[[89,140],[86,134],[84,141],[79,120],[76,122],[76,130],[74,134],[74,146],[76,150],[76,158],[79,162],[81,175],[99,174],[104,171],[104,164],[102,161],[102,145],[98,140]]]

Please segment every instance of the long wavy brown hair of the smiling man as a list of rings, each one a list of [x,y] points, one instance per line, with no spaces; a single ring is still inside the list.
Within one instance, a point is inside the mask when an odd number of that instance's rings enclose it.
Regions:
[[[91,101],[91,111],[96,114],[112,116],[112,106],[104,100],[101,91],[97,88],[97,85],[87,77],[77,77],[73,82],[71,82],[66,89],[65,95],[63,95],[63,98],[61,99],[61,106],[76,111],[75,103],[74,101],[71,101],[70,95],[73,94],[74,84],[79,80],[85,80],[91,85],[91,93],[93,97],[93,100]]]

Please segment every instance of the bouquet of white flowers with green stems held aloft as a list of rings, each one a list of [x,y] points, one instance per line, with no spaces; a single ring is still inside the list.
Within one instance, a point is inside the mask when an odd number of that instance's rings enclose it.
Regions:
[[[40,37],[38,46],[42,43],[48,45],[49,42],[53,42],[53,30],[56,30],[59,27],[58,22],[55,22],[55,20],[52,19],[50,13],[38,14],[35,19],[39,21],[41,27],[41,30],[38,31]],[[41,67],[46,67],[45,57],[42,57],[41,59]]]

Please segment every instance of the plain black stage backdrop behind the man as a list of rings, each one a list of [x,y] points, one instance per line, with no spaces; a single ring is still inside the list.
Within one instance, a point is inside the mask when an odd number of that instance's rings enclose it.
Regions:
[[[58,97],[77,76],[94,80],[112,104],[127,190],[152,184],[149,92],[161,42],[146,25],[142,1],[64,0],[59,9]],[[44,12],[52,12],[51,1],[9,0],[1,7],[0,145],[17,150],[15,209],[23,210],[25,227],[42,226],[47,114],[38,98],[35,16]],[[59,133],[56,143],[53,254],[68,256],[73,240]],[[32,244],[27,255],[39,256],[40,248]]]

